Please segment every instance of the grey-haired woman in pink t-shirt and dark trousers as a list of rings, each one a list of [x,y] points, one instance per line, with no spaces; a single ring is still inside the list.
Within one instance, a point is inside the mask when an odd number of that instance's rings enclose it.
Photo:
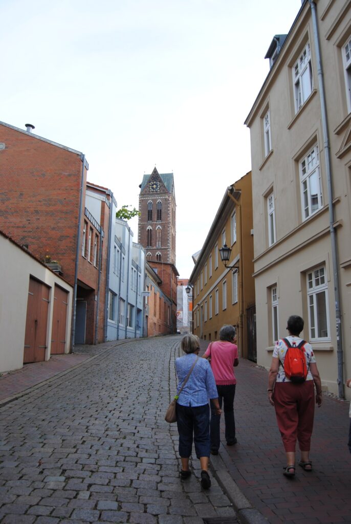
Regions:
[[[225,440],[228,446],[236,444],[234,420],[234,396],[236,378],[234,367],[239,364],[238,347],[235,344],[235,328],[224,325],[220,331],[220,340],[211,342],[203,358],[211,358],[211,368],[216,381],[218,401],[222,409],[224,404]],[[221,415],[211,408],[211,453],[218,455],[220,447]]]

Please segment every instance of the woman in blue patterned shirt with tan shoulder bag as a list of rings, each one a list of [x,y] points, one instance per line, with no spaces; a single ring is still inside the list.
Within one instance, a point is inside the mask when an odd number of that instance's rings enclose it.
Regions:
[[[194,441],[195,452],[201,465],[201,485],[208,489],[211,479],[208,473],[210,457],[210,406],[212,401],[217,415],[221,414],[218,392],[209,362],[199,358],[200,340],[196,335],[185,335],[180,343],[184,356],[175,360],[178,391],[192,365],[196,364],[177,400],[177,427],[179,454],[182,461],[181,479],[190,476],[189,457]]]

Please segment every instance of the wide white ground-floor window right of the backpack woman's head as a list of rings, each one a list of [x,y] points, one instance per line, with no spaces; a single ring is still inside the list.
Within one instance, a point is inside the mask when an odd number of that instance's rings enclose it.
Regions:
[[[307,274],[310,339],[328,339],[328,297],[325,268],[319,267]]]

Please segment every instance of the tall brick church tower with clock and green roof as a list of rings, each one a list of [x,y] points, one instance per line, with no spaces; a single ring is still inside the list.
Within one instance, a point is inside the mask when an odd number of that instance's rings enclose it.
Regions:
[[[140,184],[138,243],[146,260],[175,265],[175,193],[173,173],[155,167]]]

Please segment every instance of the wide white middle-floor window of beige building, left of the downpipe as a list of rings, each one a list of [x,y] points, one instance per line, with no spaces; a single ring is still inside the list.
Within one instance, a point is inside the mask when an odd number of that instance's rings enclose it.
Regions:
[[[303,220],[323,206],[318,146],[300,162],[300,182]]]

